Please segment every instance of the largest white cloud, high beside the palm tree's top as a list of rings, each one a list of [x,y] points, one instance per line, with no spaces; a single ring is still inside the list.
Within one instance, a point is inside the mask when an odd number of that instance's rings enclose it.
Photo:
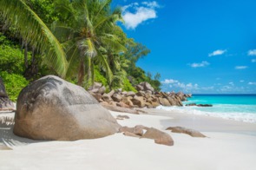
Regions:
[[[135,29],[139,24],[157,17],[156,8],[160,8],[159,4],[153,2],[131,3],[122,8],[122,17],[125,21],[124,25],[127,29]],[[131,11],[133,10],[133,12]]]

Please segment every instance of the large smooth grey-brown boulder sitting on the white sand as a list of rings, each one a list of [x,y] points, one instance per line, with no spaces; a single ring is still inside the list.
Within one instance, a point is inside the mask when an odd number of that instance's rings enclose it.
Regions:
[[[75,141],[115,134],[115,118],[83,88],[49,75],[18,96],[14,134],[33,140]]]

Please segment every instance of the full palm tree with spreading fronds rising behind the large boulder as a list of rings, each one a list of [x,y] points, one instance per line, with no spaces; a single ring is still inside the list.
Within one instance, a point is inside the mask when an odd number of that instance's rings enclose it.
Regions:
[[[56,1],[56,10],[64,19],[54,23],[53,30],[69,56],[68,72],[77,73],[79,85],[84,77],[94,82],[94,64],[106,72],[111,82],[113,73],[108,63],[108,49],[115,53],[125,50],[120,37],[115,35],[115,30],[119,29],[115,23],[121,21],[121,10],[111,11],[110,3],[111,0]]]

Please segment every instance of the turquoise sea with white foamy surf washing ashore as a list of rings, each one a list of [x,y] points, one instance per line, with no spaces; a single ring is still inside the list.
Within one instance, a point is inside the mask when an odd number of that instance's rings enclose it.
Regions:
[[[256,123],[256,95],[193,95],[182,103],[183,107],[159,106],[157,108],[181,114],[203,114],[227,120]],[[185,106],[189,103],[212,104],[213,107]]]

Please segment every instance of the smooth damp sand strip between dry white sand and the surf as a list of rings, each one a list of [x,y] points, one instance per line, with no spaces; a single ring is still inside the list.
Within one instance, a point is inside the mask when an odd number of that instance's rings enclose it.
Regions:
[[[256,123],[252,122],[226,120],[220,117],[203,114],[181,114],[175,113],[175,111],[156,108],[144,108],[143,110],[147,111],[149,114],[164,115],[173,118],[162,122],[165,127],[171,124],[172,126],[187,126],[202,132],[224,132],[256,136]]]

